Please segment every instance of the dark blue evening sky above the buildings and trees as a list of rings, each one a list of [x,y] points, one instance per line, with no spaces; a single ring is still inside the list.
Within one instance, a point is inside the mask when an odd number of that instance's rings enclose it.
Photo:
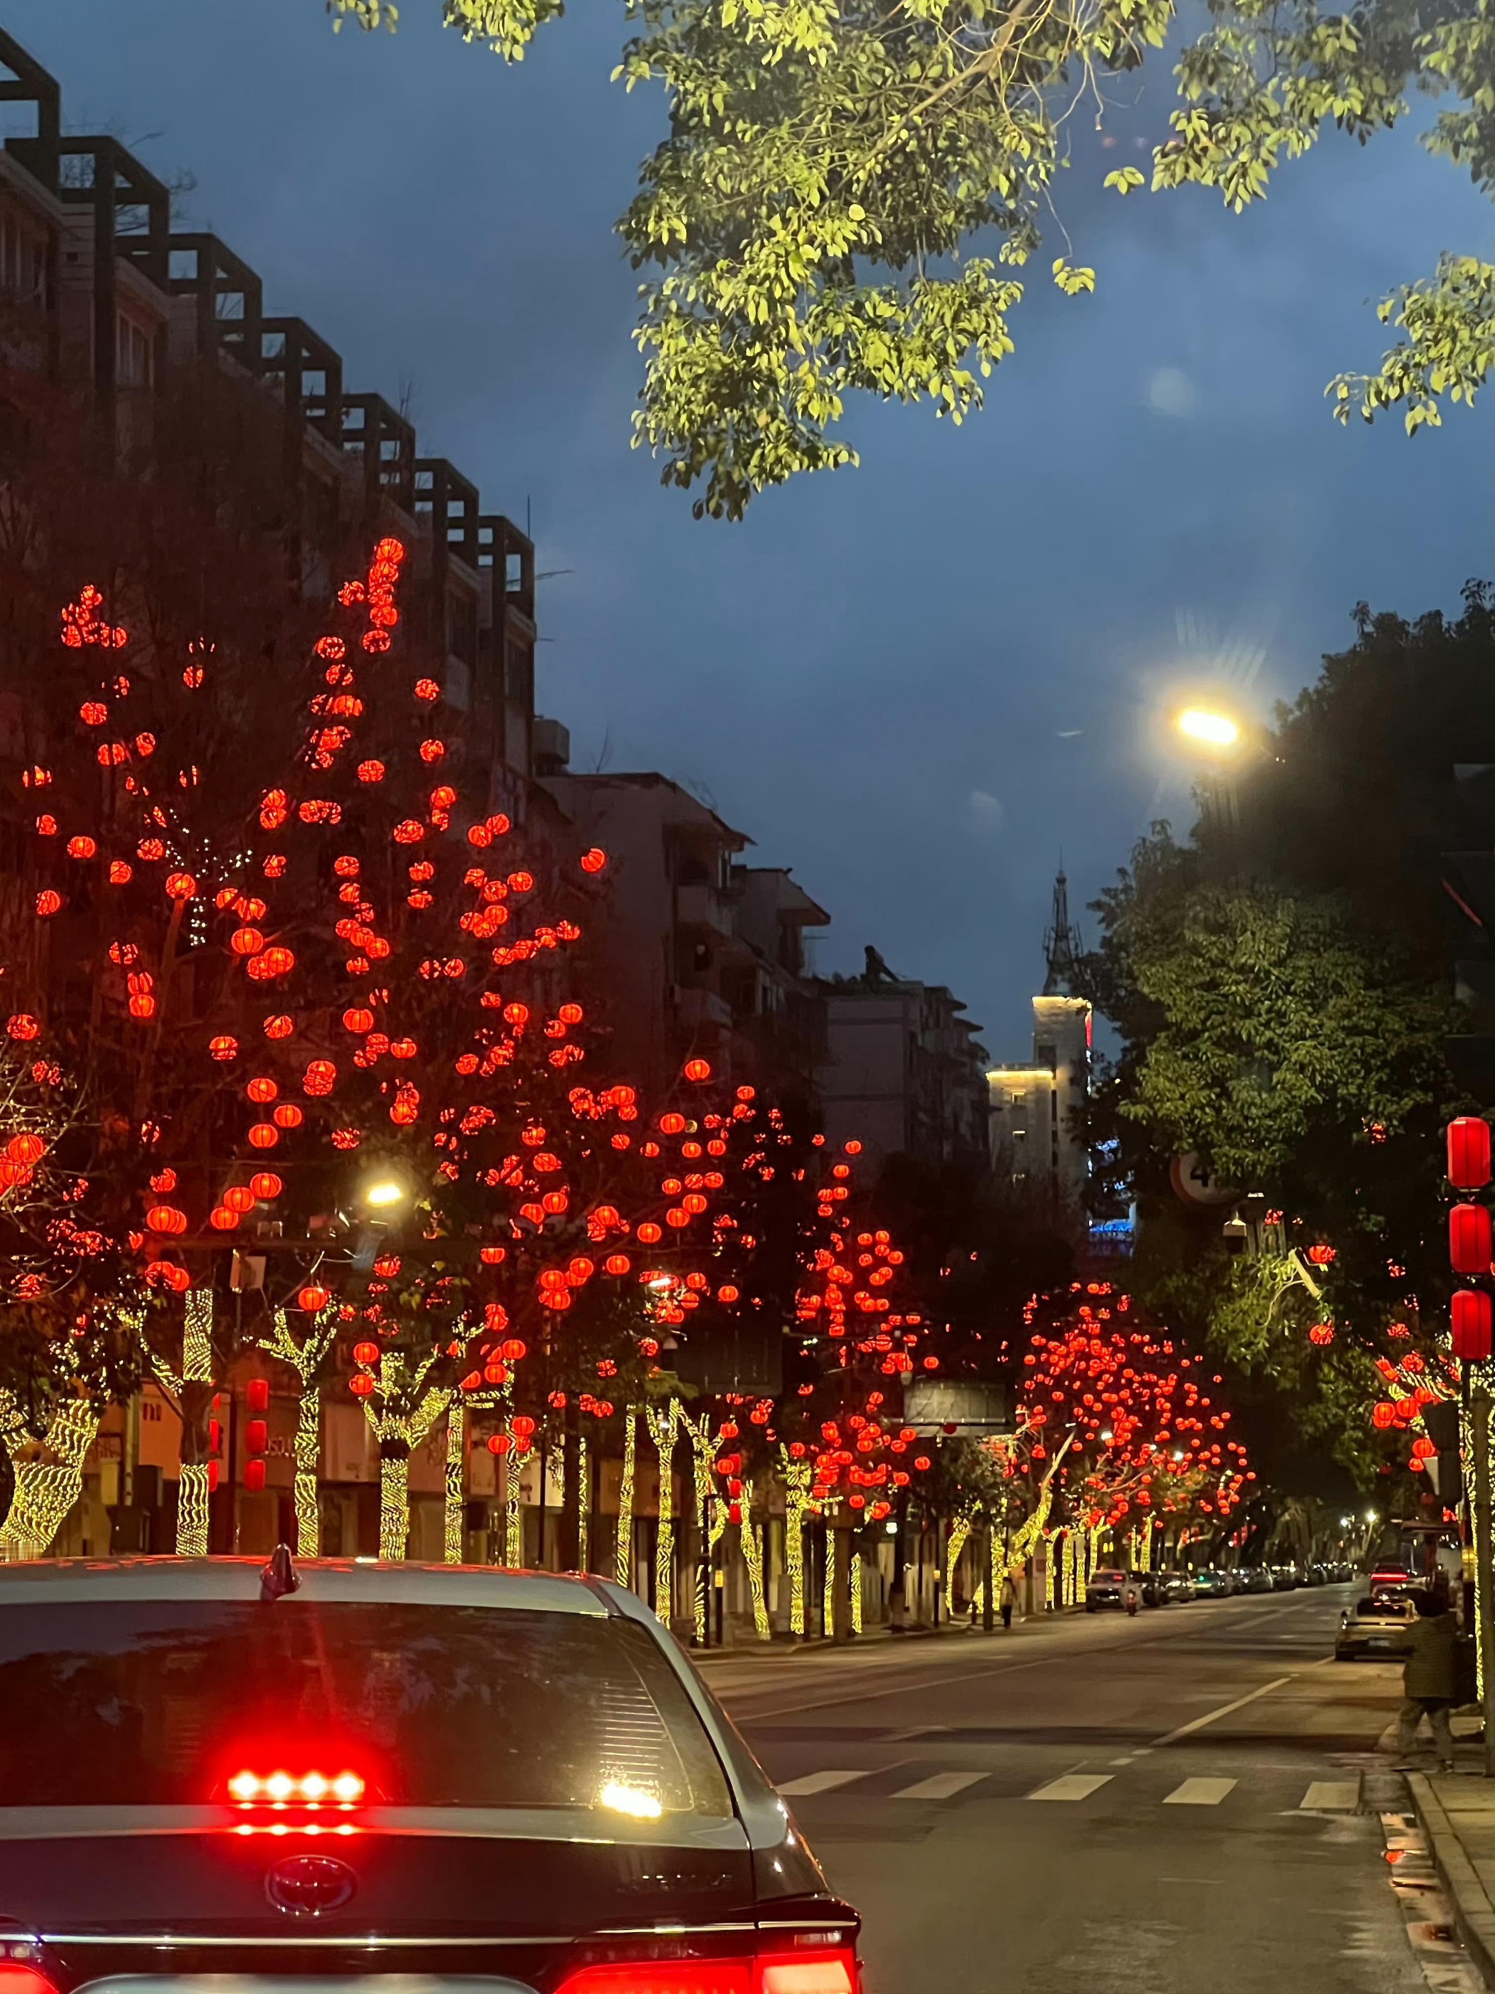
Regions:
[[[861,471],[698,524],[628,449],[634,277],[610,225],[662,118],[608,84],[620,12],[574,0],[518,70],[403,0],[333,36],[319,0],[4,0],[68,130],[189,171],[193,225],[345,357],[409,393],[423,449],[524,520],[538,702],[574,766],[658,768],[831,909],[821,965],[875,943],[953,985],[993,1053],[1027,995],[1062,847],[1084,901],[1162,808],[1154,712],[1220,654],[1266,712],[1349,638],[1349,608],[1457,608],[1495,572],[1489,403],[1409,443],[1322,401],[1371,365],[1369,309],[1495,217],[1409,132],[1326,138],[1268,203],[1100,193],[1168,110],[1162,64],[1058,189],[1094,297],[1035,259],[1017,355],[965,429],[853,405]],[[1140,86],[1132,86],[1140,88]],[[1491,397],[1495,399],[1495,395]],[[1070,736],[1070,738],[1064,738]]]

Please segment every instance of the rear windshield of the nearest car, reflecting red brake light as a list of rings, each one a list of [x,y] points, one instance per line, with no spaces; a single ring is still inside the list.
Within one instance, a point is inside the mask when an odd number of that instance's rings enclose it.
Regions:
[[[732,1815],[706,1727],[628,1619],[313,1599],[0,1613],[0,1807],[189,1805],[247,1773],[353,1773],[397,1807]]]

